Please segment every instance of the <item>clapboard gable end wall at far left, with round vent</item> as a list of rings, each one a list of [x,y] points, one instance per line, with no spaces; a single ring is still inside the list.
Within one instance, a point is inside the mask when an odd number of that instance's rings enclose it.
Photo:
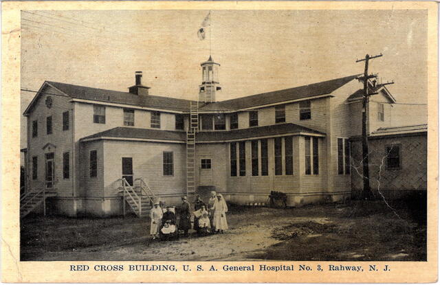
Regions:
[[[59,95],[58,95],[59,94]],[[52,98],[52,107],[45,104],[47,96]],[[45,181],[45,153],[54,152],[54,190],[58,196],[72,197],[72,103],[70,98],[62,95],[57,89],[47,87],[36,101],[29,114],[28,124],[28,173],[29,190],[41,187]],[[69,130],[63,130],[63,113],[69,111]],[[46,117],[52,115],[52,135],[46,133]],[[32,122],[38,120],[38,136],[32,137]],[[55,148],[48,150],[43,146],[52,144]],[[70,174],[69,179],[63,179],[63,153],[69,152]],[[38,179],[32,180],[32,157],[38,157]]]

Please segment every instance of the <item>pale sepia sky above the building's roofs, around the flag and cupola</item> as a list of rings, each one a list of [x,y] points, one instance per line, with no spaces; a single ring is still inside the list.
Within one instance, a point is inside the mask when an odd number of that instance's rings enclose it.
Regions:
[[[213,10],[200,41],[207,14],[22,11],[21,88],[37,91],[48,80],[128,91],[143,71],[152,95],[195,100],[200,63],[211,54],[221,65],[217,100],[227,100],[362,73],[355,60],[382,53],[370,71],[394,80],[388,89],[397,102],[427,102],[426,10]],[[34,95],[21,92],[22,111]],[[394,110],[396,125],[426,122],[426,106]]]

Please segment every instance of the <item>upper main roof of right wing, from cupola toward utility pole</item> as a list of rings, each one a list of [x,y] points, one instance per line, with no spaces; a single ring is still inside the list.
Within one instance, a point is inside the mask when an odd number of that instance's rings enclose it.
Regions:
[[[256,106],[263,106],[267,104],[276,104],[285,101],[305,99],[318,95],[327,95],[357,77],[358,75],[347,76],[314,84],[303,85],[300,87],[250,95],[221,102],[214,102],[202,106],[200,108],[200,111],[233,111],[252,108]]]

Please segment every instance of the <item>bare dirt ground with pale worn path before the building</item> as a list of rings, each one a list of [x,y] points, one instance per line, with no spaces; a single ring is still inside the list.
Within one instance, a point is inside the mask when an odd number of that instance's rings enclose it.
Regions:
[[[223,234],[151,240],[149,220],[29,216],[21,260],[426,260],[423,201],[230,205]],[[416,205],[416,207],[415,207]]]

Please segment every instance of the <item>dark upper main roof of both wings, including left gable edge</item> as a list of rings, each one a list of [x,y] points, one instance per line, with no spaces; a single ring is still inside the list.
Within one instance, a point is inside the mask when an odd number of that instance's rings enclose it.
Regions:
[[[319,95],[330,95],[336,89],[355,79],[357,75],[327,80],[314,84],[308,84],[300,87],[250,95],[242,98],[203,104],[200,106],[200,112],[213,111],[238,111],[241,109],[249,109],[258,106],[270,104],[282,104],[287,101],[301,100]],[[76,100],[90,100],[102,103],[126,104],[131,106],[140,106],[151,109],[162,109],[167,111],[189,112],[191,100],[162,97],[155,95],[135,95],[129,92],[113,91],[107,89],[98,89],[91,87],[83,87],[74,84],[66,84],[61,82],[46,81],[42,85],[39,93],[26,109],[24,115],[27,115],[32,106],[43,93],[44,87],[51,86],[61,93],[68,95]]]

